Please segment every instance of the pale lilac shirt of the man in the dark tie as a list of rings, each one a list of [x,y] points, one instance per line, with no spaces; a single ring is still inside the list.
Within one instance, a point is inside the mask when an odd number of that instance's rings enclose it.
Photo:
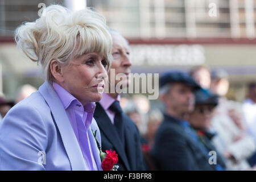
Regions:
[[[118,95],[117,96],[117,101],[120,101],[120,98],[121,98],[120,95]],[[108,114],[108,117],[109,117],[109,119],[110,119],[110,121],[112,122],[113,125],[114,125],[115,113],[113,111],[111,111],[109,109],[109,107],[113,104],[114,101],[115,101],[115,99],[110,97],[106,93],[102,94],[102,98],[101,98],[101,101],[100,101],[101,106],[103,107],[103,109]]]

